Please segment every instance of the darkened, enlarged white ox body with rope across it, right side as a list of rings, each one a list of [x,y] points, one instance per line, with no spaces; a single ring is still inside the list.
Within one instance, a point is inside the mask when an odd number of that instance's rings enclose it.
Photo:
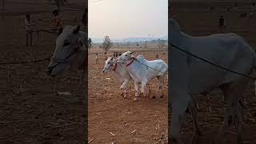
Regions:
[[[238,34],[213,34],[204,37],[192,37],[184,34],[173,18],[169,19],[168,30],[170,44],[210,62],[248,75],[252,73],[256,66],[254,50]],[[250,79],[212,66],[182,53],[174,47],[170,48],[169,54],[171,68],[169,98],[172,107],[170,138],[174,142],[182,143],[179,132],[187,108],[190,108],[194,117],[194,127],[198,130],[197,111],[194,108],[192,95],[208,93],[214,88],[220,88],[228,101],[223,126],[219,130],[216,142],[223,142],[226,130],[230,128],[231,123],[235,120],[238,133],[237,142],[241,144],[242,102],[240,100],[246,82]]]

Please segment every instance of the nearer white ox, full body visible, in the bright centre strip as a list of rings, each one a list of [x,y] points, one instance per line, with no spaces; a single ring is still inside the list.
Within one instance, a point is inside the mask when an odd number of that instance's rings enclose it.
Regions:
[[[150,79],[157,77],[158,78],[158,90],[163,88],[164,79],[168,71],[168,66],[166,62],[162,60],[147,61],[142,55],[138,55],[135,58],[132,55],[133,52],[127,51],[122,54],[117,62],[122,62],[126,65],[130,77],[134,79],[135,85],[135,97],[134,101],[138,98],[138,83],[142,83],[141,94],[146,97],[145,86]],[[161,95],[162,98],[162,95]]]

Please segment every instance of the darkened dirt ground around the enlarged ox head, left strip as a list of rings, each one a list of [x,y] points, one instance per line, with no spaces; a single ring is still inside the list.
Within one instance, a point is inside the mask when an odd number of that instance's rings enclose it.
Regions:
[[[34,34],[34,46],[26,46],[24,18],[31,14],[38,28],[51,28],[51,6],[47,1],[7,1],[6,18],[0,19],[0,63],[46,58],[54,52],[55,36]],[[66,25],[80,24],[83,1],[63,13]],[[38,21],[38,18],[42,20]],[[77,21],[75,21],[77,19]],[[77,90],[79,74],[70,72],[59,79],[44,74],[48,62],[0,65],[1,144],[81,144],[86,137],[86,102]],[[9,75],[9,76],[8,76]],[[68,91],[71,95],[59,95]]]

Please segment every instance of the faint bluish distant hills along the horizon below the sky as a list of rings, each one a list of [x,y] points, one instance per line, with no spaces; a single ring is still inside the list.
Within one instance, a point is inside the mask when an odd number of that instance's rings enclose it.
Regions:
[[[168,36],[164,37],[159,37],[159,38],[115,38],[111,39],[112,42],[146,42],[146,41],[152,41],[152,40],[157,40],[157,39],[162,39],[162,40],[167,40]],[[103,38],[91,38],[91,40],[94,43],[102,43]]]

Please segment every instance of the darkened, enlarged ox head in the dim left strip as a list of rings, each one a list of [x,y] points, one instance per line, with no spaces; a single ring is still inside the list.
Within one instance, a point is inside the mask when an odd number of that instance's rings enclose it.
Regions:
[[[69,70],[82,70],[86,66],[86,33],[80,31],[80,26],[66,26],[56,40],[54,54],[46,69],[51,77],[65,74]],[[84,84],[84,73],[80,86]]]

